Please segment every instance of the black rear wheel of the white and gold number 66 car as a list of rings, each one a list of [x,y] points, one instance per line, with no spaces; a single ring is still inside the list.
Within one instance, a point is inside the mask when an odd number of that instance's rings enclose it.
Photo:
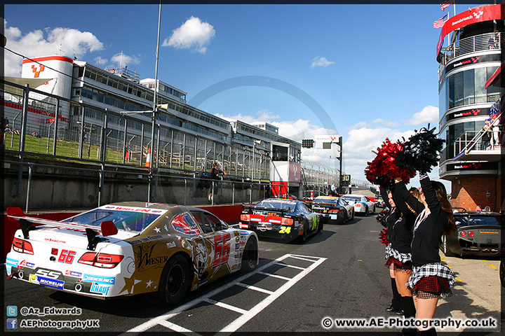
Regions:
[[[147,300],[159,305],[180,304],[189,289],[190,282],[189,262],[183,255],[176,254],[163,268],[158,291],[148,293]]]

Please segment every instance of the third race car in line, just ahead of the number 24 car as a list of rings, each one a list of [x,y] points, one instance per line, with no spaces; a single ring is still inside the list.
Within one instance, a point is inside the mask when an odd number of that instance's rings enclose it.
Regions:
[[[342,197],[319,196],[309,204],[312,211],[321,214],[323,223],[334,221],[335,224],[344,224],[354,219],[354,207]]]

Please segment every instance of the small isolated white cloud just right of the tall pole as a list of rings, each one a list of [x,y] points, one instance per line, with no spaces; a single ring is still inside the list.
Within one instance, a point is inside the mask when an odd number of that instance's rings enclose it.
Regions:
[[[215,36],[213,25],[201,22],[199,18],[191,16],[182,26],[173,30],[170,38],[165,38],[162,46],[177,49],[190,49],[191,52],[205,54],[210,40]]]

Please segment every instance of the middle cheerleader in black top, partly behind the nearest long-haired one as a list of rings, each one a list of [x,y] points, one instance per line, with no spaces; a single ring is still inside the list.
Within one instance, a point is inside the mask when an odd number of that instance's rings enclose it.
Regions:
[[[416,310],[412,299],[412,292],[405,286],[405,283],[412,274],[410,245],[412,243],[412,226],[415,223],[417,213],[400,196],[400,188],[398,188],[400,185],[405,188],[404,183],[398,183],[393,189],[393,200],[396,208],[401,211],[401,216],[391,228],[391,256],[386,264],[393,267],[396,286],[398,287],[398,293],[401,295],[403,315],[405,318],[415,318]],[[420,195],[417,188],[410,188],[410,193],[419,199]],[[417,329],[403,328],[402,335],[417,335]]]

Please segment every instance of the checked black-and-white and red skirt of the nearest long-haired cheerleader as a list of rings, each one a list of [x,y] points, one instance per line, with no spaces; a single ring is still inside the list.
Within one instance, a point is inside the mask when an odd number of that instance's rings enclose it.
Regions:
[[[456,280],[452,270],[440,262],[435,262],[421,267],[412,267],[412,275],[405,284],[412,291],[412,295],[421,299],[430,299],[451,296],[450,288],[454,282]]]

